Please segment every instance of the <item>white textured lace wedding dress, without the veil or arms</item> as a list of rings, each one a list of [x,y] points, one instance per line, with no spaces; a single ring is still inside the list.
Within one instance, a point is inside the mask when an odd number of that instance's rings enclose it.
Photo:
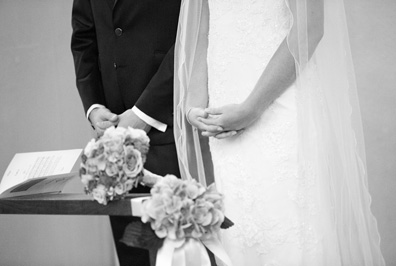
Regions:
[[[279,0],[210,0],[209,10],[209,106],[240,103],[287,36],[289,10]],[[241,135],[210,139],[216,186],[235,223],[222,232],[234,265],[300,265],[304,248],[312,263],[320,258],[319,232],[299,218],[308,199],[298,190],[295,90]]]

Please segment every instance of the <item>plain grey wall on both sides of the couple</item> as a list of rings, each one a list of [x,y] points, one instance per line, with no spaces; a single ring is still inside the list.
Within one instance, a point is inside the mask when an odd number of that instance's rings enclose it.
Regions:
[[[396,265],[396,2],[345,0],[366,136],[372,210]],[[72,0],[0,0],[0,177],[17,152],[83,148]],[[113,265],[105,217],[0,216],[0,265]]]

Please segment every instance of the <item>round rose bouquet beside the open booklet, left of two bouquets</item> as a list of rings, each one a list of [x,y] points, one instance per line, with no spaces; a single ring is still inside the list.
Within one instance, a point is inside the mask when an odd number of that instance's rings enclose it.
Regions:
[[[125,197],[143,181],[149,141],[145,131],[131,127],[110,127],[101,138],[92,139],[81,156],[85,192],[103,205]]]

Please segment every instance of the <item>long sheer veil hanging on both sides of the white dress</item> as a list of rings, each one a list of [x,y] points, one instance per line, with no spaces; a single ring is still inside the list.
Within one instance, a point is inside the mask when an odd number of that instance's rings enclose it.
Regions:
[[[213,180],[207,139],[186,120],[186,96],[198,60],[207,0],[183,0],[175,45],[175,138],[183,179]],[[365,148],[343,0],[324,0],[324,36],[309,47],[309,2],[286,1],[295,58],[298,178],[307,228],[323,228],[321,265],[385,265],[370,210]],[[207,84],[202,84],[207,88]],[[312,212],[320,215],[312,215]],[[320,219],[320,221],[319,221]],[[309,231],[306,231],[309,234]],[[302,237],[309,237],[308,235]],[[304,247],[303,247],[304,248]],[[307,248],[306,252],[309,252]],[[308,261],[306,264],[309,265]]]

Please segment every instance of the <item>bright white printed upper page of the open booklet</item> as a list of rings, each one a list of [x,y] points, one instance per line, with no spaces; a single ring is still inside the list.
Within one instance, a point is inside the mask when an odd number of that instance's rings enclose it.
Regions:
[[[74,149],[15,154],[1,180],[0,194],[32,178],[69,173],[81,151]]]

